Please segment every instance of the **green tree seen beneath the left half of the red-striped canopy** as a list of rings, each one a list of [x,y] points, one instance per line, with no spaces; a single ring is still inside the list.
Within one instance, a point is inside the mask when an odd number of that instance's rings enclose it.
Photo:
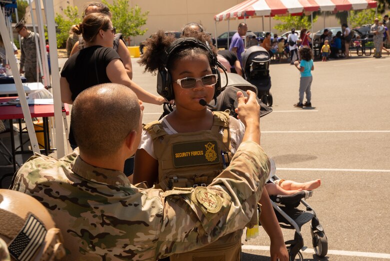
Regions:
[[[275,16],[273,19],[282,22],[280,24],[276,24],[273,27],[278,31],[286,31],[290,30],[291,28],[295,28],[296,30],[306,28],[307,30],[310,30],[311,28],[311,16]],[[315,23],[317,19],[317,14],[313,13],[313,23]]]

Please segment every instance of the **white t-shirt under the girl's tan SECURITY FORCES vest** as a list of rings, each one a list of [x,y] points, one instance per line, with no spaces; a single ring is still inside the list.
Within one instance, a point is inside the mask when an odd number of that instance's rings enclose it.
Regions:
[[[166,117],[166,116],[165,116]],[[176,134],[177,131],[175,131],[172,126],[168,123],[168,121],[164,118],[160,120],[160,122],[163,122],[164,131],[168,135]],[[242,142],[243,134],[245,132],[245,126],[243,123],[238,120],[239,122],[239,129],[234,129],[230,125],[229,131],[230,131],[230,144],[231,144],[231,154],[234,155],[234,153],[237,151],[239,144]],[[223,135],[223,129],[221,129],[220,134]],[[153,147],[153,141],[150,137],[150,134],[147,133],[145,130],[142,130],[142,137],[141,142],[139,143],[138,149],[144,149],[147,154],[149,154],[153,159],[157,160],[155,153],[154,153],[154,147]]]

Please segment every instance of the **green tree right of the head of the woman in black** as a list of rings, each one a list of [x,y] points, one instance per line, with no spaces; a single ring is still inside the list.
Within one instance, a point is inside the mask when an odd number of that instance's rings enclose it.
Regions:
[[[141,13],[137,5],[129,8],[128,0],[114,0],[112,5],[106,0],[102,0],[102,3],[108,6],[112,14],[112,25],[123,35],[123,38],[142,36],[146,33],[147,29],[141,30],[140,28],[146,24],[148,11]]]

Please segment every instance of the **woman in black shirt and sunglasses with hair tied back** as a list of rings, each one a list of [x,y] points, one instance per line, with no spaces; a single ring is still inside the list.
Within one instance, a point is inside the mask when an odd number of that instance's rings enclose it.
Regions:
[[[61,71],[60,88],[63,103],[72,104],[83,90],[102,83],[118,83],[129,87],[145,103],[161,105],[165,99],[153,95],[128,78],[119,55],[112,49],[115,28],[108,16],[93,13],[84,17],[81,24],[73,28],[82,34],[85,48],[72,55]],[[76,146],[72,132],[69,143]]]

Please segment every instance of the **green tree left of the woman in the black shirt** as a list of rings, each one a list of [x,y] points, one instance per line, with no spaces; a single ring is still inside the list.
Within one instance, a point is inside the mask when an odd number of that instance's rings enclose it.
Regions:
[[[78,8],[67,6],[63,10],[65,18],[62,15],[55,14],[55,24],[57,24],[57,48],[62,48],[67,38],[69,37],[69,30],[72,25],[77,25],[81,22],[81,19],[78,17]]]

